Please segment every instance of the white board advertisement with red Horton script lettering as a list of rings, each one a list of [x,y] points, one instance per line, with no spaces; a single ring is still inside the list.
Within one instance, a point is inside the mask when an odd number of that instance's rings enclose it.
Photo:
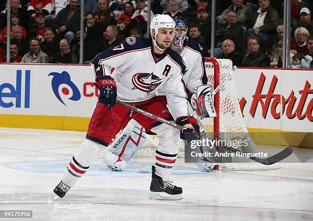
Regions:
[[[312,70],[240,68],[234,78],[248,128],[313,132]]]

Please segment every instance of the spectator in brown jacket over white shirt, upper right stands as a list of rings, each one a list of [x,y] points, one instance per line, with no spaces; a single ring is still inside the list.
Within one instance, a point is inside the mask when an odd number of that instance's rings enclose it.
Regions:
[[[253,13],[250,26],[246,27],[247,38],[257,36],[265,42],[264,51],[271,47],[276,38],[276,28],[279,23],[278,12],[270,6],[269,0],[259,0],[260,8]]]

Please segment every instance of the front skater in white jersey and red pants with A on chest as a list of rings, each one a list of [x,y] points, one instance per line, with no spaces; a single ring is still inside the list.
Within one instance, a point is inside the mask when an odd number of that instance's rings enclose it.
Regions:
[[[150,23],[152,38],[128,37],[120,45],[98,54],[91,66],[100,96],[90,120],[86,140],[71,159],[67,171],[54,192],[63,198],[132,118],[145,131],[158,134],[155,164],[152,166],[151,199],[180,200],[183,190],[169,182],[178,144],[190,134],[200,136],[197,120],[188,114],[187,94],[183,83],[186,66],[182,57],[171,50],[175,22],[168,15],[155,15]],[[164,96],[157,96],[158,91]],[[116,104],[119,99],[176,121],[185,127],[171,126]]]

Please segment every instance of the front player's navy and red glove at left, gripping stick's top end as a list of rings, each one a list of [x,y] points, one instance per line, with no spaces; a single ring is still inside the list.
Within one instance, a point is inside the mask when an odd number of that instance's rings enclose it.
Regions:
[[[114,79],[110,76],[98,76],[96,78],[95,86],[100,91],[98,101],[105,104],[108,109],[113,108],[117,97],[116,83]]]

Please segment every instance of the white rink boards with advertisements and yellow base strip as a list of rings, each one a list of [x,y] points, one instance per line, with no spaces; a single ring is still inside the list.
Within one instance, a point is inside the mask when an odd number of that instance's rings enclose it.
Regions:
[[[250,132],[293,132],[287,144],[312,145],[312,70],[239,68],[234,78]],[[90,65],[0,64],[0,127],[84,131],[93,82]]]

